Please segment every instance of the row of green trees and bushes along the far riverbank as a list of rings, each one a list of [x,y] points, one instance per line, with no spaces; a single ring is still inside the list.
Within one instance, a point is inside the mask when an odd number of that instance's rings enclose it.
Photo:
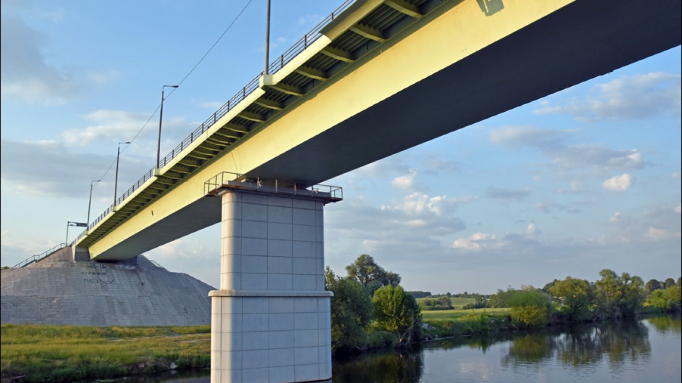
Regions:
[[[597,281],[566,277],[543,288],[522,286],[496,294],[446,294],[406,292],[400,275],[385,271],[374,258],[362,254],[346,266],[345,277],[327,267],[325,288],[331,298],[331,343],[334,350],[400,346],[423,334],[421,309],[452,309],[451,297],[474,298],[463,308],[509,308],[498,320],[507,328],[542,327],[547,324],[606,320],[634,316],[641,311],[670,311],[681,307],[681,279],[651,281],[610,269]],[[656,283],[657,282],[657,283]],[[416,297],[421,300],[420,307]],[[485,325],[491,320],[479,314]],[[506,319],[505,319],[506,318]],[[475,318],[474,318],[475,319]],[[484,326],[484,327],[486,327]],[[486,327],[487,328],[487,327]]]

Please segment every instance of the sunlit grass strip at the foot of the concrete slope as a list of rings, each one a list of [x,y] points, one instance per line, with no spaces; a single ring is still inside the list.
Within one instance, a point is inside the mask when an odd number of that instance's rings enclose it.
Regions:
[[[27,382],[70,382],[211,362],[211,326],[3,324],[0,335],[3,381],[25,375]]]

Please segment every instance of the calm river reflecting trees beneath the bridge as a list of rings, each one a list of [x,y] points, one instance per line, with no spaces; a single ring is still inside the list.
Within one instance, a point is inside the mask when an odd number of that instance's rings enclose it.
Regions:
[[[679,383],[681,328],[679,316],[655,316],[533,333],[438,339],[400,351],[336,357],[331,383]],[[127,380],[131,381],[140,382]],[[209,378],[204,371],[145,382],[205,383]]]

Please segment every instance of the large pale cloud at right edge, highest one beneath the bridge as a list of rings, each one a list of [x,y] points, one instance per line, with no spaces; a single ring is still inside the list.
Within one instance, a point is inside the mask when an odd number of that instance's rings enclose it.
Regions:
[[[597,95],[552,106],[541,102],[537,114],[573,114],[582,121],[644,119],[679,115],[681,76],[664,72],[623,76],[595,86]]]

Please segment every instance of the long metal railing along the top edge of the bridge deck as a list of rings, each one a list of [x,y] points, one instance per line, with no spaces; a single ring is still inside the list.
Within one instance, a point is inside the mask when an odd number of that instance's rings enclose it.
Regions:
[[[268,67],[269,74],[277,73],[279,70],[282,69],[282,67],[284,67],[284,65],[286,65],[289,61],[291,61],[295,57],[297,57],[301,52],[303,52],[303,50],[308,48],[308,46],[310,46],[310,44],[315,42],[320,37],[321,34],[318,32],[321,31],[321,29],[323,29],[325,26],[327,26],[329,24],[329,22],[331,22],[336,16],[338,16],[344,10],[346,10],[346,8],[348,8],[351,4],[355,3],[355,1],[356,0],[345,0],[341,5],[339,5],[338,8],[336,8],[336,10],[331,12],[331,14],[329,14],[321,22],[319,22],[318,25],[316,25],[310,31],[308,31],[308,33],[303,35],[303,37],[301,37],[300,40],[298,40],[295,44],[293,44],[293,46],[291,46],[291,48],[288,48],[288,50],[286,50],[284,53],[282,53],[282,55],[280,55],[280,57],[278,57],[277,59],[272,61]],[[230,110],[233,110],[235,108],[235,106],[237,106],[240,102],[242,102],[243,99],[246,99],[246,97],[248,97],[248,95],[250,95],[253,91],[258,89],[258,87],[260,85],[261,76],[263,76],[263,72],[259,73],[258,76],[256,76],[253,80],[249,81],[248,84],[246,84],[244,87],[239,89],[239,91],[235,95],[233,95],[230,99],[228,99],[227,102],[225,104],[223,104],[223,106],[218,108],[218,110],[216,110],[216,112],[213,112],[213,114],[211,116],[209,116],[209,118],[207,118],[206,121],[201,123],[201,125],[199,125],[196,129],[194,129],[194,131],[192,131],[189,136],[187,136],[184,140],[182,140],[180,142],[180,144],[178,144],[177,147],[173,148],[173,150],[171,150],[170,153],[168,153],[165,157],[160,159],[159,164],[158,164],[159,168],[163,168],[164,166],[166,166],[166,164],[171,162],[179,153],[181,153],[186,147],[188,147],[192,142],[194,142],[194,140],[201,137],[201,135],[204,132],[206,132],[209,129],[209,127],[211,127],[218,120],[220,120],[222,117],[224,117],[224,115],[227,114]],[[131,194],[133,194],[134,191],[136,191],[140,187],[140,185],[143,185],[148,179],[150,179],[154,174],[154,169],[155,169],[155,167],[151,168],[148,172],[145,173],[145,175],[143,175],[142,178],[140,178],[136,183],[134,183],[130,187],[130,189],[128,189],[128,191],[125,191],[125,193],[123,193],[123,195],[121,195],[119,198],[117,198],[116,199],[116,206],[121,204],[121,202],[123,202],[123,200],[125,200],[125,198],[128,198]],[[78,235],[76,237],[76,239],[74,239],[74,241],[72,241],[72,244],[76,243],[78,240],[83,238],[83,236],[85,236],[85,233],[88,230],[91,230],[91,228],[95,227],[95,225],[98,224],[100,221],[102,221],[102,219],[104,219],[104,217],[106,217],[106,215],[108,215],[108,213],[111,213],[112,208],[113,208],[113,205],[109,206],[108,209],[106,209],[106,211],[104,211],[104,213],[100,214],[100,216],[97,217],[92,222],[92,224],[90,224],[87,227],[87,230],[80,233],[80,235]]]

